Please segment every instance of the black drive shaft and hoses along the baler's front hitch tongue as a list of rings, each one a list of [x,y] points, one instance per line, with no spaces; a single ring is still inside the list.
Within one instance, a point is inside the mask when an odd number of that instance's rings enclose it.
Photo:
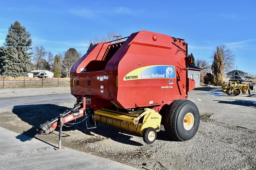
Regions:
[[[83,102],[79,102],[78,105],[74,106],[72,109],[66,110],[61,116],[65,117],[67,115],[70,115],[70,113],[80,109],[82,103]],[[50,127],[59,120],[59,117],[60,116],[56,117],[55,119],[52,119],[51,121],[46,121],[45,123],[41,124],[39,127],[41,129],[41,133],[46,133],[50,129]]]

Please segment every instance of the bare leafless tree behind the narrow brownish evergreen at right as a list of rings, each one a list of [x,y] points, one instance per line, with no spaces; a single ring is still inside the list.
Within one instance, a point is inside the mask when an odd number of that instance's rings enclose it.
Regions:
[[[228,72],[234,68],[236,56],[234,53],[228,48],[226,45],[220,45],[217,46],[220,49],[223,64],[224,64],[224,70],[223,72]],[[214,59],[214,54],[216,53],[216,50],[212,54],[212,59]]]

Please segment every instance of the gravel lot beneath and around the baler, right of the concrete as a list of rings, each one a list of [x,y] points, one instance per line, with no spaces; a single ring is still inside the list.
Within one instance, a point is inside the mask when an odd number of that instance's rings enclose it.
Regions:
[[[142,137],[102,123],[85,132],[80,123],[63,128],[62,145],[140,169],[256,169],[256,93],[231,97],[218,90],[202,87],[189,92],[201,119],[198,133],[189,141],[168,141],[161,126],[157,140],[146,145]],[[35,129],[72,106],[16,108],[0,114],[0,127],[58,144],[57,131],[42,136]]]

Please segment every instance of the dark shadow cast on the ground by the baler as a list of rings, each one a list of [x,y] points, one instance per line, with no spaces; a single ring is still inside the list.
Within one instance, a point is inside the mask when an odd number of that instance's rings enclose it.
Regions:
[[[63,113],[66,109],[70,109],[68,107],[64,106],[58,106],[54,104],[38,104],[38,105],[23,105],[23,106],[14,106],[12,109],[12,112],[16,114],[22,121],[32,125],[32,128],[28,129],[27,131],[23,131],[22,134],[18,135],[16,138],[19,139],[22,142],[29,141],[32,138],[36,138],[36,135],[38,135],[38,131],[36,131],[36,128],[40,126],[40,124],[50,121],[51,119],[58,117],[60,113]],[[80,117],[76,120],[76,122],[80,122],[83,120],[84,117]],[[104,125],[102,123],[98,123],[96,129],[91,129],[90,131],[86,131],[85,129],[85,121],[79,124],[75,124],[71,127],[65,127],[63,126],[63,136],[67,137],[69,135],[65,134],[65,131],[72,131],[72,130],[79,130],[85,135],[94,136],[90,133],[96,133],[97,135],[101,135],[106,138],[110,138],[114,141],[118,141],[120,143],[128,144],[128,145],[136,145],[136,146],[142,146],[141,143],[138,143],[136,141],[130,140],[132,137],[123,133],[119,133],[118,131],[114,131],[109,126]],[[57,129],[58,130],[58,129]],[[53,132],[53,134],[56,135],[56,138],[58,138],[58,133]],[[38,138],[36,138],[38,139]],[[40,140],[40,139],[39,139]],[[42,140],[41,140],[42,141]],[[44,141],[45,142],[45,141]],[[46,143],[46,142],[45,142]]]

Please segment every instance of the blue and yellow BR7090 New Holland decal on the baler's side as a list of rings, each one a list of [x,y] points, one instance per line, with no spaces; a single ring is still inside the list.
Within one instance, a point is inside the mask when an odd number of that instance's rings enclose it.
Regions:
[[[132,70],[124,76],[123,80],[140,80],[150,78],[176,78],[175,67],[170,65],[144,66]]]

